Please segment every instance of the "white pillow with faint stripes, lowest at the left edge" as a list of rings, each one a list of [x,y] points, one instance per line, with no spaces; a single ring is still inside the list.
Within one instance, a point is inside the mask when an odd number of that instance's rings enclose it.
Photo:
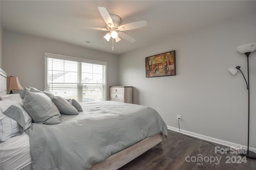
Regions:
[[[2,111],[1,111],[2,112]],[[0,120],[0,141],[4,142],[7,139],[20,134],[20,125],[12,118],[5,116]]]

